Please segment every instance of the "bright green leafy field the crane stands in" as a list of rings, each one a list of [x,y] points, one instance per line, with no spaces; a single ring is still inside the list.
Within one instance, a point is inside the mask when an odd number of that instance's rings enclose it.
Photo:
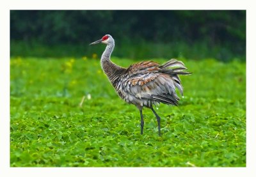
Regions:
[[[99,59],[11,58],[10,166],[245,167],[246,63],[181,60],[193,74],[181,77],[179,107],[155,109],[159,137],[148,109],[140,135],[140,112],[116,95]]]

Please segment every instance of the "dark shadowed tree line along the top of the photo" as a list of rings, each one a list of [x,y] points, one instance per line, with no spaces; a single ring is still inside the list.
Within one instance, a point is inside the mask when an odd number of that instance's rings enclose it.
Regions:
[[[149,42],[207,41],[245,51],[244,10],[11,10],[10,38],[83,43],[111,34]]]

